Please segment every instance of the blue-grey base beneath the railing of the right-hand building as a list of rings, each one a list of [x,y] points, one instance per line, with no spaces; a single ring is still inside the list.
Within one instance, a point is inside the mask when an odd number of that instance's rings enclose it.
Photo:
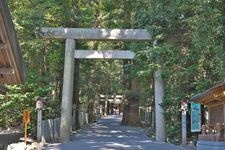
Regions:
[[[225,150],[225,142],[198,141],[197,150]]]

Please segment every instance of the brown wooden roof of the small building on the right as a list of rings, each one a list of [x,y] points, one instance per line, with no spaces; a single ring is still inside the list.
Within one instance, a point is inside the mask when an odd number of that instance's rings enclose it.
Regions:
[[[225,100],[225,82],[218,84],[203,93],[197,94],[191,98],[195,103],[202,103],[203,105],[213,105]]]

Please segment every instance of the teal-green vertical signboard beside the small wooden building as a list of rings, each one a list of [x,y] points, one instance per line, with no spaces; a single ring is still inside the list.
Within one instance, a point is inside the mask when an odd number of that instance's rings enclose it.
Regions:
[[[191,102],[191,132],[201,131],[201,104]]]

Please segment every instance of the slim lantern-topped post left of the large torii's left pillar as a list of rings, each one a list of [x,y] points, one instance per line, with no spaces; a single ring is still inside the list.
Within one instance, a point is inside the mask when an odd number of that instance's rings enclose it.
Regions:
[[[42,122],[42,108],[43,108],[43,101],[40,97],[36,99],[36,109],[37,109],[37,141],[41,142],[42,137],[42,129],[41,129],[41,122]]]

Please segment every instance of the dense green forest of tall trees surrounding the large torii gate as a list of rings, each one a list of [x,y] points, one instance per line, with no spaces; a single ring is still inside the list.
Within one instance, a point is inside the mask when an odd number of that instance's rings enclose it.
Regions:
[[[37,37],[37,27],[148,29],[149,42],[84,42],[77,49],[131,49],[133,62],[76,60],[74,97],[82,105],[98,94],[124,94],[123,78],[136,80],[139,105],[154,107],[154,71],[162,70],[166,133],[181,136],[180,102],[225,77],[225,2],[222,0],[8,0],[27,70],[22,85],[7,85],[0,96],[0,127],[21,124],[35,97],[45,98],[44,118],[60,115],[64,65],[63,40]],[[76,70],[76,69],[75,69]],[[123,71],[129,72],[124,77]],[[76,71],[75,71],[76,72]],[[129,86],[129,85],[128,85]]]

